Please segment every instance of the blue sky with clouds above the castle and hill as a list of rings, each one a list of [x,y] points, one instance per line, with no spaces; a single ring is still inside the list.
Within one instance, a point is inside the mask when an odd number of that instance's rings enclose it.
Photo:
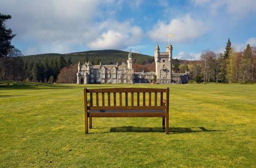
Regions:
[[[154,56],[173,45],[173,58],[199,60],[256,46],[255,0],[0,0],[12,44],[24,55],[119,49]]]

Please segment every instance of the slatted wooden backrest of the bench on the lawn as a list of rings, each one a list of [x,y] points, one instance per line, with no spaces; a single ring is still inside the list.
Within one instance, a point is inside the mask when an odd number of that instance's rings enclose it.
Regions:
[[[166,103],[163,101],[164,96]],[[84,88],[84,106],[91,110],[166,109],[169,106],[169,88]]]

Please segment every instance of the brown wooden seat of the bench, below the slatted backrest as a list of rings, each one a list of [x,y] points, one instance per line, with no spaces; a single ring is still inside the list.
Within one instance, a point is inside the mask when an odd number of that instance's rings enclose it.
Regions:
[[[164,109],[88,110],[89,117],[165,117]]]

